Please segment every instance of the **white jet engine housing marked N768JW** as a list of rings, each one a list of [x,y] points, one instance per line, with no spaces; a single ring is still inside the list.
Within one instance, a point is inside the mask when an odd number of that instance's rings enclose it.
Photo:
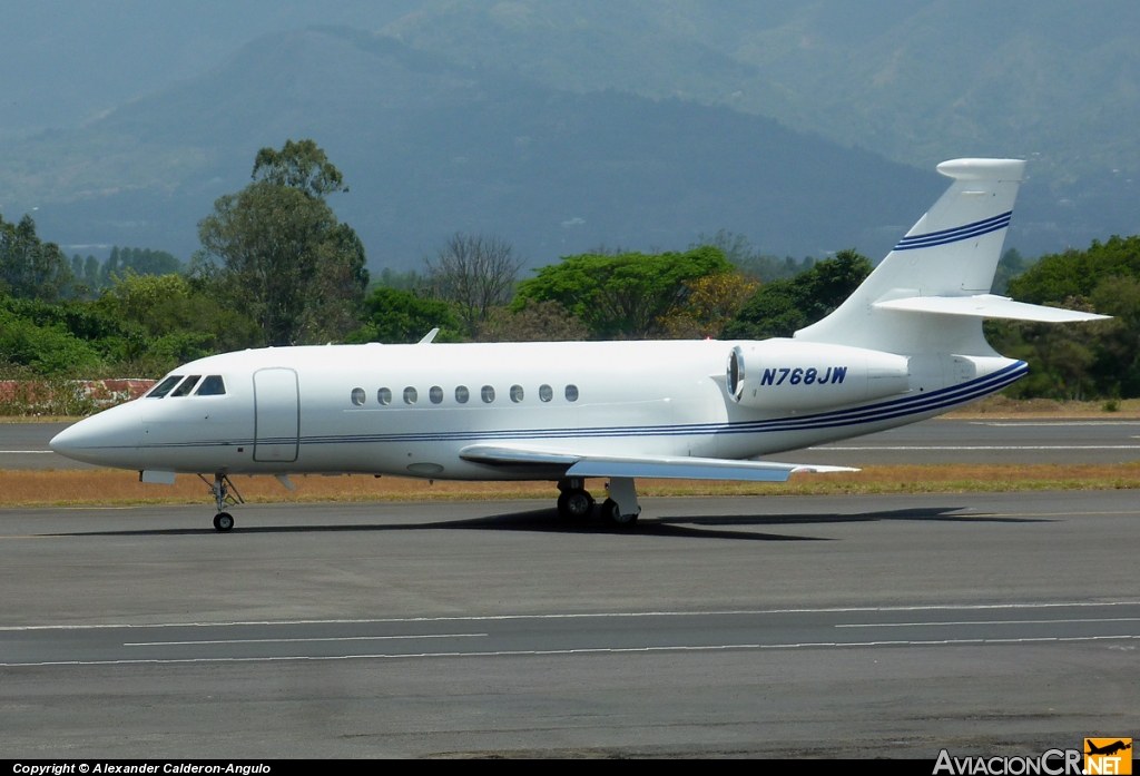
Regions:
[[[730,395],[754,409],[824,409],[910,391],[905,356],[795,340],[736,345],[727,377]]]

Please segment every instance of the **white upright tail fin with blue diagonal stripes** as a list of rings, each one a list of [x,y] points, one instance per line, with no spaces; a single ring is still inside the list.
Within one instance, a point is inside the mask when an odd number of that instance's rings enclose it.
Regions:
[[[995,354],[982,335],[984,311],[883,307],[990,293],[1025,162],[953,160],[938,172],[954,179],[950,189],[839,309],[797,332],[797,340],[906,354]]]

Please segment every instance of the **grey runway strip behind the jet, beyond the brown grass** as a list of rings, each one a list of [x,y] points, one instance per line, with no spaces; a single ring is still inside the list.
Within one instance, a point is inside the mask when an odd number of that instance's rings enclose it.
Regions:
[[[48,449],[66,423],[0,423],[0,468],[97,468]],[[806,464],[1123,464],[1140,460],[1140,419],[925,420],[784,452]]]

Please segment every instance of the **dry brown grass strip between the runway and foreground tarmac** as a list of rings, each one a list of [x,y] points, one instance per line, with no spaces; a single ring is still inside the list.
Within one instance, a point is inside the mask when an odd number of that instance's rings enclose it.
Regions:
[[[247,501],[421,501],[553,499],[549,482],[435,482],[401,477],[294,476],[295,491],[269,476],[236,477]],[[591,481],[595,496],[604,481]],[[1140,488],[1140,464],[1115,466],[868,466],[862,472],[797,474],[787,483],[638,480],[644,496],[797,496],[855,493],[948,493],[1026,490],[1116,490]],[[210,492],[195,476],[174,485],[142,484],[136,472],[0,471],[0,505],[209,504]]]

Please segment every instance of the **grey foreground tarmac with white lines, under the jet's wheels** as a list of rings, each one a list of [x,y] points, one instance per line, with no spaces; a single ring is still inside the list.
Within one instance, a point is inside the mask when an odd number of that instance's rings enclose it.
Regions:
[[[929,757],[1140,728],[1131,491],[0,510],[0,757]]]

